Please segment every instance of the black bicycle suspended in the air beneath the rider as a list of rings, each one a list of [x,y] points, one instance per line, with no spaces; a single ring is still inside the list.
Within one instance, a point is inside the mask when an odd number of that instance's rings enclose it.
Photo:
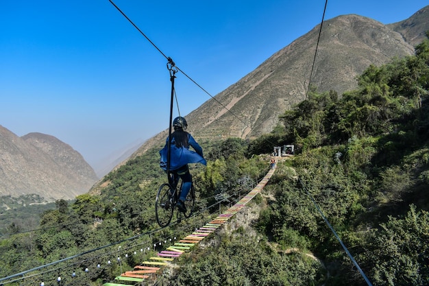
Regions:
[[[177,189],[179,181],[180,188]],[[162,184],[158,189],[158,193],[156,194],[155,213],[156,221],[161,227],[165,227],[170,224],[171,218],[173,217],[174,208],[180,198],[182,185],[183,182],[180,179],[180,176],[175,172],[171,172],[169,175],[169,182]],[[186,213],[182,213],[181,211],[177,210],[177,222],[182,220],[182,214],[185,218],[188,218],[191,217],[193,213],[195,204],[195,190],[193,184],[191,184],[191,190],[189,190],[184,203],[186,206]]]

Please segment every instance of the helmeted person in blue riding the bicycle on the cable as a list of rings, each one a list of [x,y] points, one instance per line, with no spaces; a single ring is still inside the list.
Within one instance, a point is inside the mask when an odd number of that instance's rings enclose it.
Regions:
[[[182,191],[180,193],[179,201],[177,202],[177,208],[179,211],[186,213],[185,200],[186,196],[191,189],[192,177],[189,173],[188,163],[201,163],[207,165],[206,159],[203,156],[203,149],[195,141],[193,136],[186,132],[188,123],[184,117],[176,117],[173,120],[174,132],[171,133],[170,141],[170,168],[169,171],[174,171],[177,175],[182,178]],[[167,156],[168,156],[168,144],[169,136],[164,148],[160,150],[160,167],[167,171]],[[192,146],[194,151],[189,150],[189,146]]]

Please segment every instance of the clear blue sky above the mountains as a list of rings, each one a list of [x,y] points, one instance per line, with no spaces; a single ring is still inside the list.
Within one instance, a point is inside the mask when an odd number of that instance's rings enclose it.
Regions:
[[[113,2],[213,96],[309,32],[325,5],[323,0]],[[325,20],[359,14],[395,23],[426,5],[330,0]],[[167,60],[110,1],[3,1],[0,31],[0,125],[16,135],[56,136],[97,165],[168,128]],[[175,90],[181,115],[210,99],[182,73]]]

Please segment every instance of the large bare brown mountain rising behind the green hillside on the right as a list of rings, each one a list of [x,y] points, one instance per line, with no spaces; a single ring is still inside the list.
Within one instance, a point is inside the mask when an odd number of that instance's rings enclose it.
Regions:
[[[369,65],[412,55],[413,45],[429,30],[428,10],[429,6],[391,25],[356,14],[324,21],[316,58],[320,25],[186,115],[189,131],[197,140],[253,139],[271,132],[279,115],[305,99],[309,84],[318,91],[336,91],[341,97],[356,88],[356,76]],[[131,158],[162,146],[167,132],[149,139]]]

